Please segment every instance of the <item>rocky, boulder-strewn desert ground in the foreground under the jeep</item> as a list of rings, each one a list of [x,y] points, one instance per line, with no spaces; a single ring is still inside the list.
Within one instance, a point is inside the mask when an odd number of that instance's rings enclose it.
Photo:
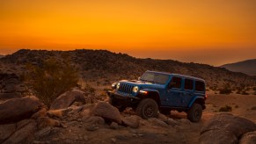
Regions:
[[[0,104],[0,143],[255,142],[255,117],[250,114],[255,112],[254,96],[209,95],[199,123],[191,123],[186,113],[179,112],[141,119],[131,109],[119,112],[107,102],[91,104],[90,99],[84,91],[67,91],[49,110],[36,97],[4,100]],[[223,104],[233,104],[234,110],[216,112]]]

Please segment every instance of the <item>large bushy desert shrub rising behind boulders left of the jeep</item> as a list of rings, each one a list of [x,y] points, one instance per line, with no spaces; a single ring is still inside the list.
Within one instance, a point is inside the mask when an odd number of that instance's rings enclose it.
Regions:
[[[30,67],[27,81],[36,97],[49,107],[56,97],[77,86],[78,73],[68,60],[59,62],[48,59],[43,61],[41,67]]]

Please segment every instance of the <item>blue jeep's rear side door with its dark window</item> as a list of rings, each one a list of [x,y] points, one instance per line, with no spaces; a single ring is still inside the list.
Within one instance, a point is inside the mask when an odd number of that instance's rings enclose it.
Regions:
[[[194,79],[184,78],[184,92],[182,94],[182,106],[187,107],[194,97]]]

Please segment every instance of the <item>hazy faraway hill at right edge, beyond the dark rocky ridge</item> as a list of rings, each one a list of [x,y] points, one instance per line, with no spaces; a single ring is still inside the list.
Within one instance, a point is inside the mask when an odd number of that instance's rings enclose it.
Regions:
[[[241,72],[250,76],[256,76],[256,59],[224,64],[221,67],[227,68],[230,71]]]

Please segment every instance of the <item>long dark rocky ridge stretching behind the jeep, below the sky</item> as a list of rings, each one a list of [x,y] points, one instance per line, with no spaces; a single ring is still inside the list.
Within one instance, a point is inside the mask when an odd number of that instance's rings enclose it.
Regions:
[[[120,79],[137,79],[146,70],[179,73],[196,76],[206,80],[208,87],[221,88],[229,83],[232,87],[253,85],[256,77],[243,73],[231,72],[225,68],[213,67],[206,64],[187,63],[173,60],[138,59],[128,54],[116,54],[106,50],[74,50],[74,51],[46,51],[46,50],[19,50],[0,59],[1,69],[7,72],[22,74],[26,71],[26,64],[42,65],[42,61],[54,57],[62,61],[67,58],[80,69],[80,74],[86,81],[98,82],[105,79],[113,82]],[[2,70],[4,71],[4,70]]]

